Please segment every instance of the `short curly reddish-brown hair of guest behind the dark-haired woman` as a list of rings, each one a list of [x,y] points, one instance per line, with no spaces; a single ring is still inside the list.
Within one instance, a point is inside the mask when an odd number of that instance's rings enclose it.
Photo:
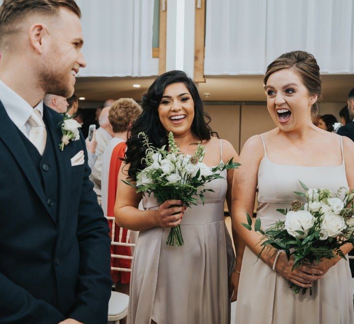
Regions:
[[[108,120],[112,125],[113,132],[126,132],[129,125],[133,123],[141,113],[141,107],[131,98],[120,98],[115,101],[108,113]]]

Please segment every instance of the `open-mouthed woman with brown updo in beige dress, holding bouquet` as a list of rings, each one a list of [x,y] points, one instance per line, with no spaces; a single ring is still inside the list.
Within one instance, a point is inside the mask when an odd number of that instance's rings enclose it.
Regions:
[[[264,78],[267,107],[275,128],[251,137],[240,153],[242,172],[233,183],[233,226],[246,244],[236,256],[240,272],[237,324],[339,324],[354,323],[352,276],[349,262],[337,256],[318,265],[292,271],[293,259],[277,250],[261,251],[260,237],[245,229],[246,213],[253,214],[257,195],[257,218],[262,227],[284,220],[278,208],[289,208],[308,188],[354,188],[354,143],[326,132],[312,123],[321,96],[320,68],[313,55],[292,51],[279,56]],[[343,193],[344,195],[344,193]],[[340,197],[343,198],[343,197]],[[301,198],[300,198],[301,199]],[[303,201],[304,202],[304,201]],[[353,246],[342,247],[347,255]],[[272,270],[274,268],[274,270]],[[312,295],[295,294],[294,283],[312,287]]]

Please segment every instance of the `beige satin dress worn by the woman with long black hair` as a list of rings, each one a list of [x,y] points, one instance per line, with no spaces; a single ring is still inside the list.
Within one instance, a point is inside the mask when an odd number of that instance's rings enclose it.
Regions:
[[[226,170],[222,175],[226,179]],[[169,228],[140,232],[127,323],[230,323],[228,279],[235,256],[224,222],[225,179],[207,185],[215,192],[205,192],[205,205],[199,202],[185,211],[181,223],[184,246],[166,244]],[[144,197],[143,206],[158,209],[153,197]]]

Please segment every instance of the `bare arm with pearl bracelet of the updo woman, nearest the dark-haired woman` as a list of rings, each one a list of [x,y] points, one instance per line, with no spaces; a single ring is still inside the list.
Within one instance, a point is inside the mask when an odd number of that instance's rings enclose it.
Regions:
[[[253,215],[254,200],[257,187],[259,163],[264,155],[263,144],[259,136],[251,137],[243,146],[238,162],[239,170],[234,173],[232,188],[232,222],[236,236],[258,255],[262,249],[260,236],[254,231],[244,228],[241,223],[247,223],[246,213]],[[253,225],[255,220],[253,219]],[[275,258],[275,249],[264,250],[260,258],[270,267]],[[242,253],[236,256],[236,270],[240,271]]]

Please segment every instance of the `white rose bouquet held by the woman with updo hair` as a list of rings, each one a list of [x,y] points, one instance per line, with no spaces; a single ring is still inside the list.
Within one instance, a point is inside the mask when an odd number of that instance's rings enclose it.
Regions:
[[[306,192],[294,193],[306,198],[307,202],[294,201],[289,210],[277,209],[285,215],[285,221],[278,221],[262,230],[261,220],[256,220],[254,231],[262,235],[263,240],[258,257],[266,247],[272,246],[284,251],[288,260],[294,257],[293,269],[303,264],[318,264],[321,258],[341,256],[345,259],[340,247],[347,243],[354,244],[354,189],[347,189],[341,200],[339,195],[346,188],[339,188],[333,195],[328,188],[308,189],[301,181],[300,184]],[[242,225],[252,230],[252,219],[248,214],[247,222]],[[290,288],[295,293],[302,290],[303,294],[307,290],[293,283]]]

